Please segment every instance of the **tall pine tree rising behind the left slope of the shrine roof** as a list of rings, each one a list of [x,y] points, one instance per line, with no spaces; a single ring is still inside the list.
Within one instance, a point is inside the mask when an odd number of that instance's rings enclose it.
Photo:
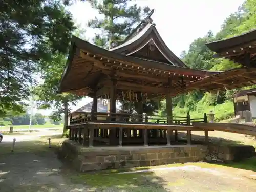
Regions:
[[[104,15],[104,19],[95,18],[88,23],[89,27],[100,29],[101,34],[96,34],[94,43],[103,48],[110,48],[115,42],[123,40],[134,29],[141,17],[150,11],[142,9],[137,4],[128,6],[131,0],[89,0],[92,7]]]

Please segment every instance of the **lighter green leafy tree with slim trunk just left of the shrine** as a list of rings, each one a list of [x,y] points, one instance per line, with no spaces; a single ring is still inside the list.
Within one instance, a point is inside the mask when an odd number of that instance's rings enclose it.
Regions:
[[[63,54],[53,56],[51,62],[44,63],[45,68],[42,69],[41,78],[44,79],[42,84],[39,84],[33,93],[37,97],[39,109],[49,109],[54,106],[55,110],[50,118],[54,121],[61,120],[62,113],[65,113],[65,125],[68,125],[68,103],[76,104],[81,98],[73,94],[58,94],[58,84],[61,79],[61,74],[66,65],[67,57]],[[64,129],[65,131],[65,129]]]

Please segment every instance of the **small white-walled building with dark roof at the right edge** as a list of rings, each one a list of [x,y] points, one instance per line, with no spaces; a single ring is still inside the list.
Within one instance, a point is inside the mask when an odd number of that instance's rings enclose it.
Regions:
[[[244,117],[245,111],[251,112],[251,117],[256,118],[256,88],[243,90],[233,97],[234,114]]]

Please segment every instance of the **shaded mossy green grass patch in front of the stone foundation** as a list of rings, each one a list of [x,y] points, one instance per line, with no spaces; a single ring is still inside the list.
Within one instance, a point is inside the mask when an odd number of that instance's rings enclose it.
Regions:
[[[69,179],[74,184],[86,184],[101,190],[115,188],[134,192],[165,191],[163,188],[163,185],[166,184],[165,181],[153,172],[118,174],[119,172],[120,170],[105,170],[94,173],[73,173]]]

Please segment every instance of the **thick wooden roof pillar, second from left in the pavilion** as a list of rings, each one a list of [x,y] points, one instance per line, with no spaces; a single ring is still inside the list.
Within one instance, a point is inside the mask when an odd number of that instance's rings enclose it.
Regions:
[[[111,79],[111,88],[110,88],[110,113],[116,113],[116,79]],[[111,121],[115,121],[115,116],[112,115],[110,118]],[[117,139],[117,129],[110,129],[109,140],[110,145],[118,145]]]

